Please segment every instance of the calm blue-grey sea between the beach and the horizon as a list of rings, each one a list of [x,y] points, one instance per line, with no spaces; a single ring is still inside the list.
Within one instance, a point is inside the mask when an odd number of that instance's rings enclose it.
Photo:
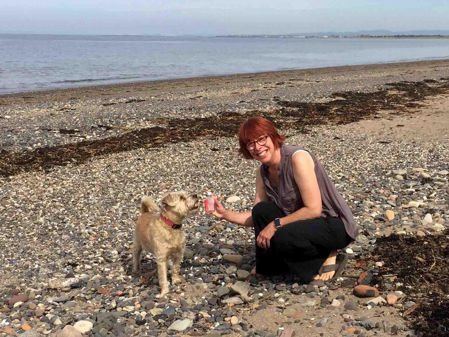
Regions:
[[[449,39],[0,34],[0,93],[449,58]]]

